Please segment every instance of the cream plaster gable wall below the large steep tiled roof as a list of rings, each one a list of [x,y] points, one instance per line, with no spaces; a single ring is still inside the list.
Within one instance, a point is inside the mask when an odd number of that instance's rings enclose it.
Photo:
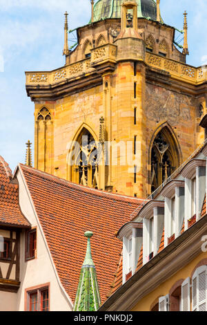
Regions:
[[[21,252],[20,252],[20,281],[21,287],[17,293],[17,310],[24,310],[25,289],[32,286],[50,283],[50,310],[63,311],[72,310],[70,297],[61,288],[55,269],[52,266],[50,254],[46,248],[46,243],[38,225],[30,197],[23,183],[21,172],[17,172],[19,181],[19,204],[21,211],[26,216],[32,227],[37,227],[37,258],[25,261],[25,232],[21,234]]]

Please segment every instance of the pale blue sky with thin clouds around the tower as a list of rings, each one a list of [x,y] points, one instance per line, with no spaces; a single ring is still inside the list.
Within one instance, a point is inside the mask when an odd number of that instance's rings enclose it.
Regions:
[[[88,24],[90,0],[0,0],[0,155],[13,171],[25,162],[27,140],[34,143],[34,103],[26,94],[24,72],[63,66],[66,10],[69,29]],[[201,66],[207,62],[207,0],[161,0],[161,16],[168,25],[182,29],[184,10],[187,63]]]

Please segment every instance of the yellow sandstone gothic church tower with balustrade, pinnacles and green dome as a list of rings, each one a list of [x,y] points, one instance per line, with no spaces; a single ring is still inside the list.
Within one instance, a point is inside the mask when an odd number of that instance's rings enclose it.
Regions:
[[[90,22],[76,29],[72,49],[65,14],[65,66],[26,73],[34,102],[34,167],[146,198],[204,141],[199,122],[206,113],[206,68],[186,64],[186,12],[181,52],[159,0],[91,6]]]

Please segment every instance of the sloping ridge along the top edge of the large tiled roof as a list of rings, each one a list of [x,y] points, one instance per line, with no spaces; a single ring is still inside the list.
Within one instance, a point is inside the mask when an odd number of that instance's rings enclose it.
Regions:
[[[23,167],[22,169],[24,169],[25,171],[28,172],[33,172],[34,174],[36,174],[37,176],[41,177],[41,178],[48,178],[50,180],[52,180],[55,183],[61,183],[64,186],[70,185],[70,187],[73,187],[79,191],[83,191],[83,192],[90,192],[91,194],[95,194],[95,195],[99,195],[99,196],[108,196],[108,198],[114,199],[116,198],[117,200],[123,201],[123,198],[126,198],[127,200],[132,200],[135,201],[135,203],[138,203],[138,201],[141,201],[141,203],[144,201],[144,198],[135,198],[134,196],[127,196],[124,194],[119,194],[119,193],[110,193],[110,192],[106,192],[103,191],[101,189],[94,189],[92,187],[88,187],[88,186],[84,186],[84,185],[80,185],[80,184],[76,184],[76,183],[72,183],[70,180],[66,180],[64,178],[60,178],[58,176],[52,175],[52,174],[48,174],[45,171],[41,171],[39,169],[35,169],[33,167],[29,167],[27,165],[23,165],[22,163],[19,163],[19,167]],[[113,197],[115,196],[115,197]]]

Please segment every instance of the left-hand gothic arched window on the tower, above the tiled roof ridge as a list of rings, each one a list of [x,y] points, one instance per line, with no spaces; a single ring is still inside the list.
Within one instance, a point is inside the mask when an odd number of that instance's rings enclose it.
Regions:
[[[79,147],[75,149],[75,154],[72,157],[72,160],[75,162],[72,178],[75,183],[98,188],[98,148],[95,139],[87,129],[83,128],[77,142]]]

